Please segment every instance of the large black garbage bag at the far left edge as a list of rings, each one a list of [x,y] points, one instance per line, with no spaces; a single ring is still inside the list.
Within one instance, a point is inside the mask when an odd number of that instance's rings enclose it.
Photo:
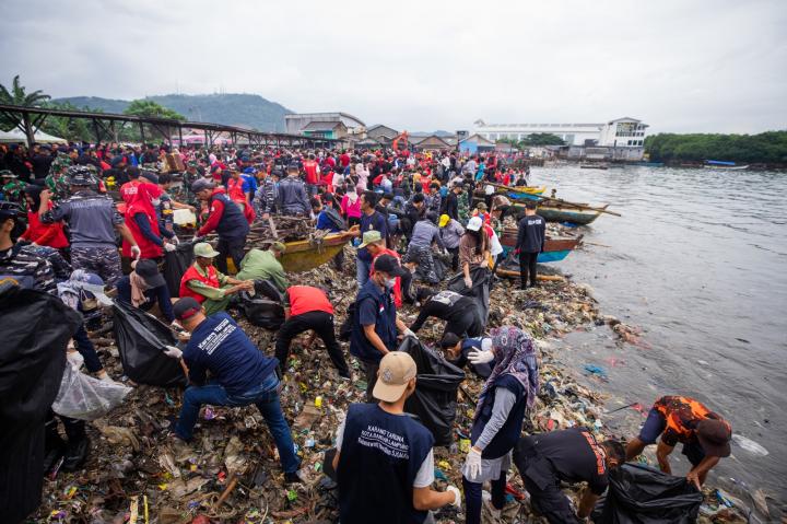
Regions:
[[[0,286],[0,515],[22,522],[38,508],[44,422],[60,389],[66,345],[82,325],[57,296]]]

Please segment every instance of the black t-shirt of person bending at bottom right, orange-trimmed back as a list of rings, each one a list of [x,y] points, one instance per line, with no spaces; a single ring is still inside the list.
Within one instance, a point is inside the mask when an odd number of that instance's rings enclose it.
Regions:
[[[587,428],[571,428],[530,436],[539,457],[547,458],[566,482],[588,482],[596,494],[607,489],[604,451]]]

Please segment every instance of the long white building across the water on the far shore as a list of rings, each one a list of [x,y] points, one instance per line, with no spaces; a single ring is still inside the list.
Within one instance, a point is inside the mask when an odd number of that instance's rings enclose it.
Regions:
[[[524,140],[528,135],[556,135],[567,145],[642,147],[647,125],[635,118],[602,124],[486,124],[475,120],[473,132],[493,142]]]

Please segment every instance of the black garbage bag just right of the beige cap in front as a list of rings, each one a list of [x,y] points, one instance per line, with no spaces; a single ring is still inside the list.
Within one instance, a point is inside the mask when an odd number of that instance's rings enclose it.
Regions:
[[[465,380],[465,372],[415,337],[406,337],[399,351],[409,353],[418,368],[415,393],[407,399],[404,410],[421,419],[432,432],[435,445],[449,445],[454,440],[451,429],[457,414],[457,391]]]

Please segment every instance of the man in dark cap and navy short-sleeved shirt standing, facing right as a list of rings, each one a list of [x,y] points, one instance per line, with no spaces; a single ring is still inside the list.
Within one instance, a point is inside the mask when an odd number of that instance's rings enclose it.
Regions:
[[[379,361],[397,348],[397,329],[404,336],[415,336],[397,318],[391,290],[396,278],[404,275],[391,255],[380,255],[374,263],[374,275],[359,290],[350,335],[350,353],[366,371],[366,399],[373,401],[372,391],[377,382]]]

